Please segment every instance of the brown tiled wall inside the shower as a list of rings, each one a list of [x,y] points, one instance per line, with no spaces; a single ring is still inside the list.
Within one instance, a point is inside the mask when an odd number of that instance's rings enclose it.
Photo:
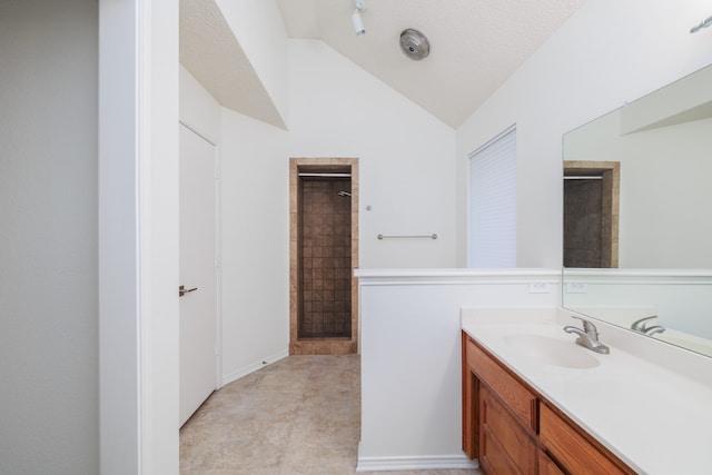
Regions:
[[[350,181],[301,184],[299,338],[349,338],[352,331]]]

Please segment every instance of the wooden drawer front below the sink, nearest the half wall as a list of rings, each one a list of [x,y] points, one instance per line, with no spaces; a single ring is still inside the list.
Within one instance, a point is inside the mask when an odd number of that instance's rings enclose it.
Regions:
[[[467,337],[467,365],[481,383],[490,386],[514,415],[536,431],[536,396]]]

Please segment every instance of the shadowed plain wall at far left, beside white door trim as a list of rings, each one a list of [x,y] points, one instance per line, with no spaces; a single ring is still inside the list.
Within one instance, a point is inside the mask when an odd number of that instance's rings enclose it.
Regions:
[[[99,472],[98,4],[0,1],[0,473]]]

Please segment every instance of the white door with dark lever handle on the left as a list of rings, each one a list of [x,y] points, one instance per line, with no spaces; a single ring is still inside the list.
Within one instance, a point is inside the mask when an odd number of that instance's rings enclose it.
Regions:
[[[216,150],[180,126],[180,425],[218,386]]]

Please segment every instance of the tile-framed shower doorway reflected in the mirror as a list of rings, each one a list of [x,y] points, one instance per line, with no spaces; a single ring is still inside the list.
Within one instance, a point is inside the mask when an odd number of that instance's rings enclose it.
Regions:
[[[619,267],[619,161],[564,161],[564,267]]]

